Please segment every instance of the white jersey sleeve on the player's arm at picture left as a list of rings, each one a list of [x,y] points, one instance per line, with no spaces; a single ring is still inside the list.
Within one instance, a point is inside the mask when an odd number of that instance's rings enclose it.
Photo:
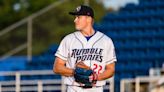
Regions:
[[[67,38],[64,38],[61,41],[61,43],[55,53],[56,57],[59,57],[65,61],[67,61],[67,58],[68,58],[68,44],[67,44],[68,41],[67,40],[68,40]]]

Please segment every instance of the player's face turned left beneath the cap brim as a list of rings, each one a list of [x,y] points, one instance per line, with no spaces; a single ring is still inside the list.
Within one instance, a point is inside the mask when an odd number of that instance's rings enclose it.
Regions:
[[[87,16],[75,16],[75,28],[76,30],[83,30],[87,27]]]

